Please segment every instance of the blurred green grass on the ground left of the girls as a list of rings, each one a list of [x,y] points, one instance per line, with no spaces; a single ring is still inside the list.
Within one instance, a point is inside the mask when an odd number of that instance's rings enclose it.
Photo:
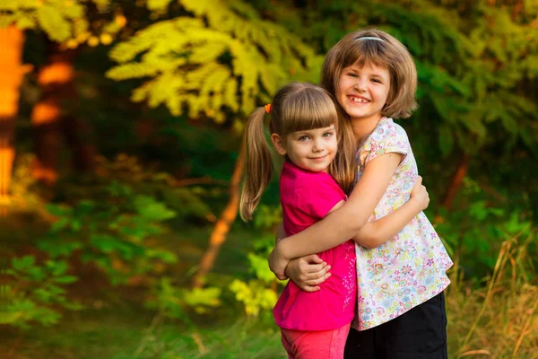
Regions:
[[[195,330],[167,322],[149,331],[152,313],[135,308],[68,313],[62,324],[3,333],[3,359],[235,359],[285,358],[276,328],[240,319]],[[6,355],[6,356],[4,356]]]

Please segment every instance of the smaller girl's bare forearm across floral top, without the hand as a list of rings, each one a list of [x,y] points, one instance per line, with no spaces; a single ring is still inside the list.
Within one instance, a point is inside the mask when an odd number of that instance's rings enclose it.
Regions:
[[[416,215],[421,213],[421,210],[421,203],[410,200],[392,214],[375,222],[366,223],[360,232],[353,237],[353,241],[366,248],[379,247],[402,231],[407,223],[410,223]]]

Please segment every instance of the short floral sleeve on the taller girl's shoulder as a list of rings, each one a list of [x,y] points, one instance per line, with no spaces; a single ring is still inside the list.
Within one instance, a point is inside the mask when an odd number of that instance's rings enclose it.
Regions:
[[[396,125],[391,118],[383,118],[360,149],[360,165],[386,153],[411,152],[411,145],[404,128]]]

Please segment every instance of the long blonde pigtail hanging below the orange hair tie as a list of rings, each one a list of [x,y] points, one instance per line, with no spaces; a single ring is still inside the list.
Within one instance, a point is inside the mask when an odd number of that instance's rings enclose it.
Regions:
[[[248,118],[245,128],[247,160],[245,182],[239,200],[239,215],[243,221],[252,219],[252,214],[273,176],[273,161],[264,131],[265,109],[256,109]]]

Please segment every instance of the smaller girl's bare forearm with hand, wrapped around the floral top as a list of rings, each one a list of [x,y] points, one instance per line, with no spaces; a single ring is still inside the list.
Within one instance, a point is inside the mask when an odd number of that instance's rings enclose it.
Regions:
[[[407,223],[420,214],[430,204],[430,196],[419,176],[412,188],[411,198],[404,206],[401,206],[390,215],[386,215],[377,221],[364,224],[359,233],[353,237],[353,241],[366,248],[376,248],[393,238],[402,231]]]

